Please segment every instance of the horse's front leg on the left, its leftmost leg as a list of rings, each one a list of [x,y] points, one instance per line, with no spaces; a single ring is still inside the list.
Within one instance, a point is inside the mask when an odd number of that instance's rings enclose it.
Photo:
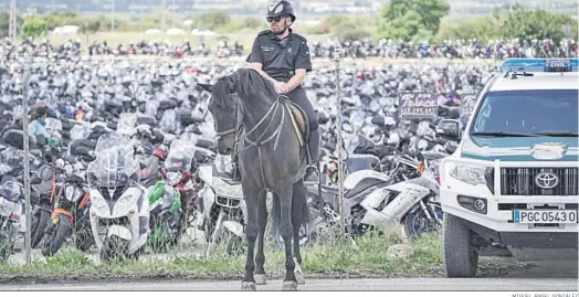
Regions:
[[[253,271],[255,269],[254,247],[257,238],[257,195],[259,192],[250,191],[250,187],[243,187],[243,199],[248,208],[248,226],[245,227],[245,237],[248,240],[248,262],[245,263],[245,277],[241,283],[242,290],[255,290],[255,279]]]

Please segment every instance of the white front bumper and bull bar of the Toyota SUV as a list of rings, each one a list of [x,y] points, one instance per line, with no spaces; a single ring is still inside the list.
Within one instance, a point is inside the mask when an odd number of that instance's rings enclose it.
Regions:
[[[470,184],[457,180],[450,176],[449,169],[451,163],[465,163],[472,166],[494,167],[494,183],[489,188],[487,184]],[[560,223],[560,224],[523,224],[515,223],[513,218],[514,209],[539,209],[545,205],[577,210],[579,197],[578,195],[502,195],[501,194],[501,168],[505,167],[577,167],[577,163],[569,162],[499,162],[497,161],[480,161],[473,159],[461,159],[456,157],[449,157],[441,162],[441,205],[444,213],[450,213],[454,216],[463,219],[472,226],[473,231],[478,230],[481,233],[498,238],[504,243],[522,242],[527,244],[541,245],[541,240],[545,246],[535,247],[551,247],[551,237],[564,236],[562,233],[572,233],[569,240],[575,238],[575,247],[577,246],[577,223]],[[493,189],[493,192],[491,191]],[[471,198],[480,198],[486,200],[486,214],[466,209],[459,203],[457,197],[465,195]],[[477,232],[478,233],[478,232]],[[530,241],[535,243],[524,243],[525,234],[531,233]],[[561,233],[554,235],[552,233]],[[480,235],[483,235],[480,234]],[[565,235],[567,236],[567,235]],[[555,240],[559,241],[559,240]]]

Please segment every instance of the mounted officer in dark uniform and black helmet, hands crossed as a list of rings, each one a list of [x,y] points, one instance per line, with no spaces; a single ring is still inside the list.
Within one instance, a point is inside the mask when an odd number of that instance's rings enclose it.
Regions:
[[[286,0],[270,3],[267,8],[270,30],[262,31],[255,38],[251,54],[245,60],[261,76],[270,81],[277,93],[283,94],[306,113],[309,124],[309,160],[304,181],[317,183],[316,167],[319,149],[317,115],[302,88],[306,73],[312,71],[312,60],[307,40],[290,28],[296,20],[294,8]],[[234,157],[234,159],[236,159]],[[241,181],[239,169],[230,177]]]

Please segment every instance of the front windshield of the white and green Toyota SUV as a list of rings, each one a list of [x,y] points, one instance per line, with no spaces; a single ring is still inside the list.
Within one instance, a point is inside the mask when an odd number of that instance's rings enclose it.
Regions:
[[[577,134],[577,89],[488,93],[471,134]]]

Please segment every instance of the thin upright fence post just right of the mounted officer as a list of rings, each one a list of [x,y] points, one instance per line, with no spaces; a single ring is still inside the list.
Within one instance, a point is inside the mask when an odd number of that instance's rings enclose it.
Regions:
[[[344,215],[344,162],[341,159],[343,156],[343,149],[344,149],[344,138],[341,137],[341,86],[340,86],[340,55],[337,54],[337,57],[334,60],[336,62],[336,98],[338,102],[338,112],[337,112],[337,120],[338,120],[338,127],[337,127],[337,136],[338,141],[336,149],[338,150],[338,195],[339,195],[339,215],[340,215],[340,232],[338,236],[343,237],[344,233],[346,231],[345,227],[345,221],[346,218]]]

